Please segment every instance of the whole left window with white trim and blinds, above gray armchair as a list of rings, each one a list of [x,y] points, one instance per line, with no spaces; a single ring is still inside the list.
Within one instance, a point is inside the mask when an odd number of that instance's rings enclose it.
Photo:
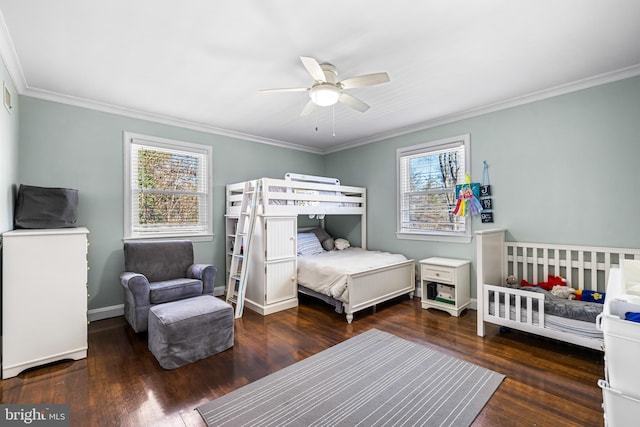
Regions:
[[[210,240],[212,148],[125,132],[124,238]]]

